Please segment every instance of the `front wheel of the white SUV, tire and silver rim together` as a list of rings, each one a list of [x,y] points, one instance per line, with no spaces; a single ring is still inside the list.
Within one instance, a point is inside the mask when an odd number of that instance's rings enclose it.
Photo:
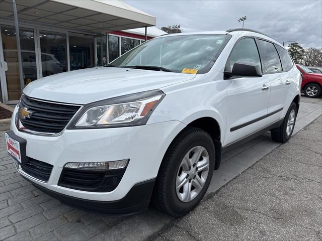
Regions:
[[[214,170],[210,135],[188,127],[173,141],[160,166],[152,204],[175,217],[194,209],[205,195]]]

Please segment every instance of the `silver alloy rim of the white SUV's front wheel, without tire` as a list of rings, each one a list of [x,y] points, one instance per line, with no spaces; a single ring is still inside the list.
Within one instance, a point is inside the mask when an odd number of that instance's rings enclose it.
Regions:
[[[183,202],[190,202],[203,189],[209,173],[209,154],[202,146],[192,148],[180,163],[176,192]]]

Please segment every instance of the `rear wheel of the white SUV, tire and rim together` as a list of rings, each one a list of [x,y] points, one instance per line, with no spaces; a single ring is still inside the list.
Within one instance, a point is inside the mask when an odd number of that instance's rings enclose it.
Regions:
[[[273,141],[285,143],[291,138],[295,126],[296,115],[296,104],[292,102],[284,117],[282,125],[279,128],[271,130]]]

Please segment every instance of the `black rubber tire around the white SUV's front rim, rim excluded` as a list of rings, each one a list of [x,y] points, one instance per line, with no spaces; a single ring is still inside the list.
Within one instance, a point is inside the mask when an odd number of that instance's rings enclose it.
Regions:
[[[201,146],[209,155],[209,171],[203,188],[194,199],[183,202],[176,192],[176,178],[184,156],[194,147]],[[188,127],[168,148],[155,182],[152,205],[174,217],[180,217],[194,209],[205,195],[215,164],[215,148],[210,135],[199,128]]]

